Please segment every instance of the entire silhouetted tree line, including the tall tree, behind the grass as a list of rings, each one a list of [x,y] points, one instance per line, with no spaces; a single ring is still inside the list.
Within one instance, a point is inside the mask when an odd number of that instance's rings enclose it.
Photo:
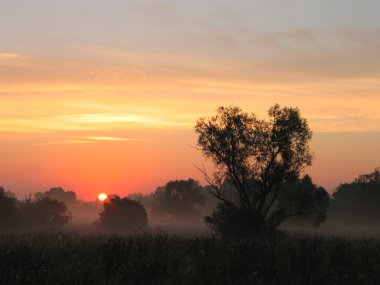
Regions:
[[[198,147],[216,169],[213,175],[199,169],[209,185],[173,180],[148,195],[111,195],[95,225],[136,230],[147,227],[148,217],[156,223],[203,219],[222,235],[252,237],[276,234],[293,218],[319,226],[328,214],[347,224],[379,223],[379,169],[341,184],[329,197],[310,176],[301,177],[312,163],[312,133],[299,110],[276,104],[268,116],[261,120],[230,106],[200,118]],[[67,205],[78,203],[75,192],[60,187],[23,201],[0,188],[0,229],[62,227],[72,218]]]

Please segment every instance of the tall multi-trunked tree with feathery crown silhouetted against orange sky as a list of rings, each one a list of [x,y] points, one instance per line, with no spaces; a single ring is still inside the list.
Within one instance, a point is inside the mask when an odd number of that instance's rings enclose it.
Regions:
[[[307,121],[297,108],[278,104],[268,115],[265,121],[236,106],[219,107],[216,116],[196,123],[198,146],[216,165],[213,177],[200,170],[221,202],[206,223],[222,233],[237,227],[240,236],[273,232],[294,216],[313,216],[315,224],[324,220],[326,205],[315,207],[311,215],[285,191],[285,185],[297,181],[312,162]],[[225,190],[226,183],[234,195]]]

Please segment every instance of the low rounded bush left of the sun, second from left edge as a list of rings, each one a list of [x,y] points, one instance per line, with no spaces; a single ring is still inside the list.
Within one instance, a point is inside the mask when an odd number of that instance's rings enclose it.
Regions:
[[[49,197],[21,202],[21,215],[24,227],[31,229],[61,228],[72,218],[64,202]]]

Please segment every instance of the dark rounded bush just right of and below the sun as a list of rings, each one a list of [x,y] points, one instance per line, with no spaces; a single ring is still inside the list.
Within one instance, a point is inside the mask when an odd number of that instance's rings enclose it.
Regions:
[[[139,201],[112,195],[104,203],[97,224],[110,230],[136,230],[148,225],[148,215]]]

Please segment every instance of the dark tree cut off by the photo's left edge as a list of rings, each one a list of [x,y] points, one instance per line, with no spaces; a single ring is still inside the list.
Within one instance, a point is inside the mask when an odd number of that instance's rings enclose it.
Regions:
[[[0,230],[9,230],[18,226],[19,211],[14,194],[0,187]]]

